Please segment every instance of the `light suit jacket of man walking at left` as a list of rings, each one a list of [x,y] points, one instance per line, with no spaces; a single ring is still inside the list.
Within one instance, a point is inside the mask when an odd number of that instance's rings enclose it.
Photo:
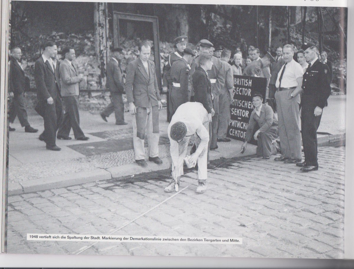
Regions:
[[[73,62],[72,62],[73,63]],[[76,72],[77,67],[74,67],[67,60],[60,63],[60,92],[61,96],[78,96],[80,77]]]

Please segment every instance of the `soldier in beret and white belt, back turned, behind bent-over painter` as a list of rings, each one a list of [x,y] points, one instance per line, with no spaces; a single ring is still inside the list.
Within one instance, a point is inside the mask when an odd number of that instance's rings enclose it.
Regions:
[[[191,48],[185,48],[183,57],[172,63],[170,76],[172,88],[170,91],[170,116],[172,118],[179,105],[189,102],[189,70],[190,63],[195,56]]]

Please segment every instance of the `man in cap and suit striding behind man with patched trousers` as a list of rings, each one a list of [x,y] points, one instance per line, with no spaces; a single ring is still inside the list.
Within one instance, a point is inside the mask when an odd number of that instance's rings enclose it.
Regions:
[[[111,102],[101,113],[102,119],[107,122],[106,117],[114,111],[116,125],[127,124],[124,121],[124,102],[122,98],[124,91],[123,75],[120,68],[122,51],[122,48],[112,49],[113,55],[107,64],[107,87],[110,91]]]

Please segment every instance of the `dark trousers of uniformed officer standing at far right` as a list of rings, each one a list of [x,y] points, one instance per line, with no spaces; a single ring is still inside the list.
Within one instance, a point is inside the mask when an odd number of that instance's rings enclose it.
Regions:
[[[304,96],[301,107],[301,136],[304,147],[306,165],[318,166],[317,161],[317,129],[321,115],[315,116],[315,97]]]

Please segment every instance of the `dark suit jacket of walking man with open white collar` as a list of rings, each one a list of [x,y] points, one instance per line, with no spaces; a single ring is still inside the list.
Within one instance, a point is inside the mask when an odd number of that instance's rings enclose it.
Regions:
[[[60,96],[59,62],[57,62],[56,70],[53,71],[50,63],[45,63],[42,56],[39,57],[34,64],[34,80],[39,101],[47,102],[49,97],[56,99],[57,96]]]

